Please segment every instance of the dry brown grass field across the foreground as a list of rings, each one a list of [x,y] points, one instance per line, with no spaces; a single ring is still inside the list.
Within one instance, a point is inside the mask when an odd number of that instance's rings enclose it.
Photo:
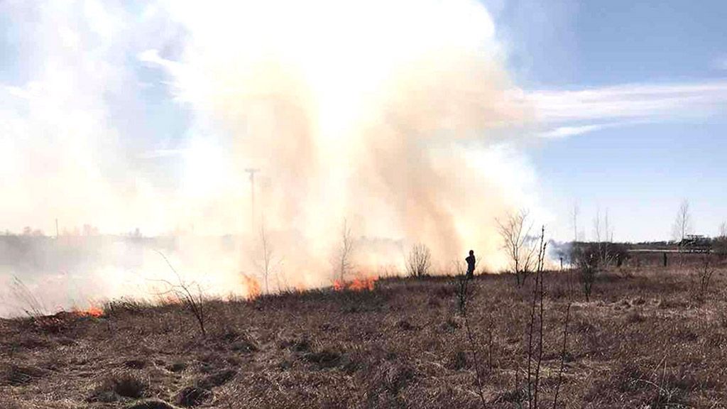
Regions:
[[[603,271],[590,301],[543,274],[538,407],[727,407],[727,268],[702,291],[697,257]],[[475,277],[465,314],[457,283],[211,300],[205,335],[177,303],[2,320],[0,407],[527,408],[533,277]]]

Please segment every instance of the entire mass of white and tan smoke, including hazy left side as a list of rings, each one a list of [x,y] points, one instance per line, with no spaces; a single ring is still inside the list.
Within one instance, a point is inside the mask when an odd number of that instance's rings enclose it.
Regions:
[[[259,277],[261,229],[288,287],[330,284],[344,223],[352,274],[401,270],[418,242],[440,268],[470,248],[502,266],[494,218],[534,206],[515,148],[531,113],[481,4],[229,3],[4,6],[33,16],[17,31],[35,41],[18,58],[27,78],[4,84],[0,228],[174,234],[172,263],[217,294]],[[194,238],[225,234],[237,239]],[[154,243],[138,248],[73,264],[108,282],[79,279],[73,298],[169,277]],[[119,284],[130,259],[136,281]]]

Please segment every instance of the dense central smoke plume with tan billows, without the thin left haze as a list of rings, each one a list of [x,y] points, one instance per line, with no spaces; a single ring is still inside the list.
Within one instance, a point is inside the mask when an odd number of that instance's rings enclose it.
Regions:
[[[492,221],[523,204],[507,177],[522,169],[491,147],[526,113],[481,4],[243,1],[172,15],[185,51],[150,60],[230,135],[236,175],[260,168],[257,220],[300,237],[286,249],[308,253],[298,271],[322,278],[344,220],[423,242],[440,263],[471,247],[499,265]]]

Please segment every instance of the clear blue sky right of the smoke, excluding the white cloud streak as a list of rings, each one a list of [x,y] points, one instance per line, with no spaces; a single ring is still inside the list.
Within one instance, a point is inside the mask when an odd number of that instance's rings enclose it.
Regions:
[[[599,114],[573,118],[558,126],[584,127],[584,132],[531,147],[539,193],[555,217],[556,236],[572,237],[569,214],[577,203],[579,230],[587,238],[600,210],[602,215],[608,211],[615,239],[668,239],[683,199],[691,204],[694,232],[717,233],[727,219],[727,2],[485,4],[510,53],[515,81],[525,90],[661,86],[668,91],[717,84],[708,97],[712,101],[698,109],[691,104],[664,112],[645,108],[636,120]],[[703,95],[675,91],[667,97]],[[653,94],[643,101],[654,105],[663,98]],[[612,102],[618,105],[617,99]],[[593,124],[608,126],[589,131]]]

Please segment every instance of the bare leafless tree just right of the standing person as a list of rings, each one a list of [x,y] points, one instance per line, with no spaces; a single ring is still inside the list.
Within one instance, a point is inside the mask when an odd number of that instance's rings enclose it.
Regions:
[[[502,247],[510,259],[510,269],[515,274],[518,286],[525,282],[529,271],[536,261],[537,240],[531,237],[532,223],[527,210],[510,213],[504,221],[496,219]]]

